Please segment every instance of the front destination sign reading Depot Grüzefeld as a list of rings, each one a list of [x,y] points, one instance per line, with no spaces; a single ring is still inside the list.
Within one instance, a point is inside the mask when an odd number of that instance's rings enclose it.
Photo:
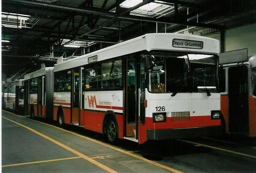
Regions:
[[[203,41],[173,39],[173,47],[203,49]]]

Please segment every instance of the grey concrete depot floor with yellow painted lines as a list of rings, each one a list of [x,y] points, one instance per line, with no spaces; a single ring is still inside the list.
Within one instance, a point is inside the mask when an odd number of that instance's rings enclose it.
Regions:
[[[256,148],[176,140],[113,146],[98,133],[2,111],[2,172],[255,172]],[[78,129],[78,130],[77,130]],[[88,137],[89,136],[89,137]],[[198,145],[200,142],[200,145]],[[208,147],[207,147],[208,146]],[[214,146],[214,147],[213,147]],[[224,148],[224,149],[223,149]]]

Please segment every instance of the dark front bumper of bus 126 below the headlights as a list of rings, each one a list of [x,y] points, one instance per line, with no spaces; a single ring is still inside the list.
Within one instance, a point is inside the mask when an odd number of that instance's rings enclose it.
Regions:
[[[147,129],[147,140],[167,140],[198,136],[215,136],[223,132],[222,125],[174,129]]]

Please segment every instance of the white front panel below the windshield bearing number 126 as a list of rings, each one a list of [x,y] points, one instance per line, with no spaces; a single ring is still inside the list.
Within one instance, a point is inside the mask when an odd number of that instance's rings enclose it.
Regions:
[[[167,117],[171,112],[190,112],[190,116],[210,116],[211,110],[220,110],[220,93],[177,93],[171,97],[167,93],[149,93],[146,89],[146,117],[152,118],[152,113],[157,113],[156,107],[165,106]],[[159,112],[158,112],[159,113]]]

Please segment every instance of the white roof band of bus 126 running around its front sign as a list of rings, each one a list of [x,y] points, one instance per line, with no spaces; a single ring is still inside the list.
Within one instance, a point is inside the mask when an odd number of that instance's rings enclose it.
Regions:
[[[173,41],[183,42],[183,46],[173,44]],[[190,46],[185,46],[185,42],[190,41]],[[201,44],[200,44],[201,43]],[[200,46],[198,46],[200,44]],[[192,45],[192,46],[191,46]],[[195,45],[195,46],[193,46]],[[89,57],[97,55],[96,61],[106,60],[112,57],[127,55],[138,51],[151,50],[169,50],[169,51],[186,51],[202,54],[219,55],[219,41],[209,37],[196,36],[191,34],[180,33],[148,33],[118,44],[115,44],[95,52],[75,57],[54,65],[54,72],[64,69],[79,67],[88,63]]]

